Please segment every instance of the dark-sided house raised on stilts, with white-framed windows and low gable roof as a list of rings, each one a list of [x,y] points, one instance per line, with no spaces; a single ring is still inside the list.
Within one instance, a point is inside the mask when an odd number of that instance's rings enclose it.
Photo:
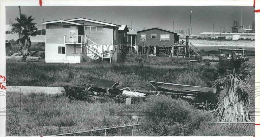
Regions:
[[[153,54],[152,50],[155,51],[156,55],[163,51],[161,49],[171,50],[170,47],[173,47],[178,41],[179,35],[176,32],[158,27],[136,31],[136,44],[140,45],[139,48],[143,52],[147,52],[149,49],[151,54]]]

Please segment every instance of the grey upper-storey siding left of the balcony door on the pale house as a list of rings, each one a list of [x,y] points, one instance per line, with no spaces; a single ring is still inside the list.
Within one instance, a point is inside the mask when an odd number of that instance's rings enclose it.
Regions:
[[[64,44],[64,35],[69,35],[69,30],[69,28],[63,28],[62,30],[46,29],[46,43]],[[76,31],[78,33],[78,29]]]

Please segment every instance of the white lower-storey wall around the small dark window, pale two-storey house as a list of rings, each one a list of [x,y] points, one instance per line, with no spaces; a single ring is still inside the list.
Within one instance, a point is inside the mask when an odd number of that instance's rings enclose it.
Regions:
[[[66,54],[58,54],[58,47],[65,47],[64,44],[45,43],[46,63],[66,63]],[[66,53],[66,48],[65,48]]]

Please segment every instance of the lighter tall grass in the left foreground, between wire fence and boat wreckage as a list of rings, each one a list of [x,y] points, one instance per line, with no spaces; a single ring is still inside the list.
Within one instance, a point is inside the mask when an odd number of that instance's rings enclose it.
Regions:
[[[14,119],[6,121],[6,135],[17,135],[13,130],[14,122],[36,123],[38,130],[31,135],[46,133],[73,132],[90,127],[110,124],[126,124],[130,117],[116,117],[110,112],[120,111],[113,102],[88,103],[83,101],[69,102],[63,94],[29,93],[21,95],[21,102],[14,100],[8,111],[21,110]],[[100,123],[100,124],[97,124]],[[76,126],[79,125],[79,126]]]

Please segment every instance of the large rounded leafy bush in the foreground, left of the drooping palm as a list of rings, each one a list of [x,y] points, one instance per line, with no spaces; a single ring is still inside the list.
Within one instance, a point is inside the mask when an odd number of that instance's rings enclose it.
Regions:
[[[200,111],[182,99],[172,99],[163,96],[152,96],[149,103],[144,104],[146,117],[143,122],[149,123],[151,132],[160,136],[194,136],[203,131],[205,136],[221,135],[220,126],[210,126],[211,113]],[[163,123],[164,128],[156,128]],[[160,130],[164,129],[164,130]]]

